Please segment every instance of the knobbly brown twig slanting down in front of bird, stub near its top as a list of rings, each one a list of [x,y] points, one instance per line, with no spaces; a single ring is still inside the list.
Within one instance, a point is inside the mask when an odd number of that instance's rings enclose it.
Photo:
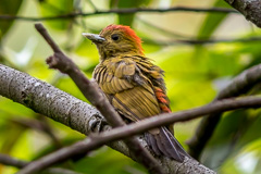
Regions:
[[[99,90],[95,82],[90,82],[79,71],[76,64],[69,59],[61,49],[55,45],[46,28],[41,24],[36,24],[36,29],[42,35],[46,41],[53,49],[54,55],[47,59],[47,63],[51,69],[58,69],[62,73],[67,74],[77,85],[83,95],[105,116],[107,121],[113,126],[124,126],[125,123],[116,113],[108,99]],[[128,138],[125,140],[128,148],[134,152],[137,160],[142,163],[151,173],[163,173],[154,158],[145,149],[137,138]]]

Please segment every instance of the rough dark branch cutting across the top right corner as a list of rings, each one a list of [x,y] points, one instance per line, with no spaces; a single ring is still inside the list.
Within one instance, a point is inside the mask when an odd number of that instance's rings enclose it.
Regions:
[[[225,0],[229,5],[238,10],[248,21],[261,27],[261,1],[260,0]]]

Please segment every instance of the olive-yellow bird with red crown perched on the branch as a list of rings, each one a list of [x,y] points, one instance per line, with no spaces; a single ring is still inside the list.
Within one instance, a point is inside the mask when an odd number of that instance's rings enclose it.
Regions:
[[[126,25],[111,24],[100,34],[83,33],[98,49],[100,61],[92,77],[117,113],[129,122],[171,113],[164,72],[145,55],[141,39]],[[188,157],[174,137],[173,125],[145,133],[156,156],[178,162]]]

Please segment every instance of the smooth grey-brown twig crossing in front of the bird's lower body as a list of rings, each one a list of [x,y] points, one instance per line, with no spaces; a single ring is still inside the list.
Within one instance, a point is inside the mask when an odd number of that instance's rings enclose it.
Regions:
[[[140,134],[154,127],[169,125],[170,123],[185,122],[215,112],[257,107],[261,107],[260,97],[245,97],[241,99],[220,100],[200,108],[176,113],[164,113],[159,116],[141,120],[140,122],[132,123],[123,127],[116,127],[97,135],[92,134],[85,140],[78,141],[70,147],[62,148],[53,153],[50,153],[39,160],[32,162],[29,165],[30,169],[25,167],[23,172],[18,172],[17,174],[27,174],[33,171],[40,171],[41,169],[65,161],[74,156],[87,153],[90,150],[94,150],[104,144]]]

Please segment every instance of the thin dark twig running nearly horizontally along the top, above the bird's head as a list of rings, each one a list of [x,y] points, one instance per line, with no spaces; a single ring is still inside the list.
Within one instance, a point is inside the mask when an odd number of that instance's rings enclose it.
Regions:
[[[16,16],[16,15],[8,15],[3,14],[0,15],[0,20],[10,21],[10,20],[21,20],[21,21],[33,21],[33,22],[40,22],[40,21],[50,21],[50,20],[70,20],[75,18],[78,16],[91,16],[91,15],[99,15],[99,14],[129,14],[129,13],[165,13],[165,12],[214,12],[214,13],[238,13],[233,9],[225,9],[225,8],[185,8],[185,7],[172,7],[167,9],[144,9],[144,8],[129,8],[129,9],[112,9],[107,11],[96,11],[92,13],[70,13],[70,14],[62,14],[57,16],[45,16],[45,17],[29,17],[29,16]]]

